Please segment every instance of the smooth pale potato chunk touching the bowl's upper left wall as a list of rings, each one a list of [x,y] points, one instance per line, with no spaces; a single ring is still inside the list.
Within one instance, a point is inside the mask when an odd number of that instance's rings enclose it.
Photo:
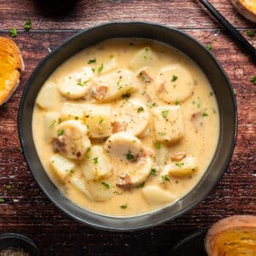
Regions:
[[[48,82],[47,84],[44,84],[39,91],[36,102],[41,108],[51,109],[54,108],[55,102],[58,102],[59,99],[60,94],[56,85],[52,82]]]

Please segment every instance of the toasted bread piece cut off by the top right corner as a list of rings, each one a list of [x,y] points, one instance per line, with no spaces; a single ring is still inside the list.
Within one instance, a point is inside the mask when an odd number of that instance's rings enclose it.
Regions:
[[[231,2],[247,20],[256,22],[256,2],[254,0],[231,0]]]

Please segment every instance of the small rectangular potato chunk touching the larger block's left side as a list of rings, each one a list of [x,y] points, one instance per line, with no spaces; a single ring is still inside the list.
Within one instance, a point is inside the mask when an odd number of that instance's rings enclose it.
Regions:
[[[61,108],[61,119],[82,119],[84,112],[84,105],[65,102]]]

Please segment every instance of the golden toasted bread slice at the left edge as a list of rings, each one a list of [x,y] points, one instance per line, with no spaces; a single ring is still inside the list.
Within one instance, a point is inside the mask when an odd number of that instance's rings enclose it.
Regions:
[[[19,85],[23,70],[20,49],[10,38],[0,37],[0,106],[8,101]]]

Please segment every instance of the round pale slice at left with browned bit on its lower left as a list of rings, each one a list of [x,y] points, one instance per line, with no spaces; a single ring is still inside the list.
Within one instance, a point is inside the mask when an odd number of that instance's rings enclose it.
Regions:
[[[77,120],[67,120],[56,127],[57,134],[53,139],[53,149],[69,159],[80,160],[84,158],[90,148],[88,130]]]

